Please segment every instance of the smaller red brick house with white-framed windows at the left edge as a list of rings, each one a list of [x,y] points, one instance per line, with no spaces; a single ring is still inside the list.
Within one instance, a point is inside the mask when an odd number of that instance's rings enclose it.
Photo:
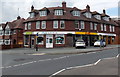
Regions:
[[[0,25],[0,49],[23,47],[23,21],[20,16],[17,20]]]

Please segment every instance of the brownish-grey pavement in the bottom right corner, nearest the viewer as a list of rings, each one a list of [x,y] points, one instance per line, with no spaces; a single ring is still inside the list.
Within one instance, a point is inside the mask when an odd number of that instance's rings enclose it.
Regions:
[[[97,65],[67,69],[57,75],[118,75],[118,58],[103,59]]]

